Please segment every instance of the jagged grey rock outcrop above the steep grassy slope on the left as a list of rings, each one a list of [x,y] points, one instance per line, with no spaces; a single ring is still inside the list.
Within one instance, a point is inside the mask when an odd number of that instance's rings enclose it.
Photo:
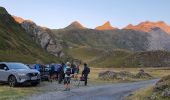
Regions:
[[[57,57],[65,55],[61,42],[54,38],[54,34],[50,29],[37,26],[34,22],[27,20],[24,20],[21,26],[30,34],[33,40],[47,52]]]

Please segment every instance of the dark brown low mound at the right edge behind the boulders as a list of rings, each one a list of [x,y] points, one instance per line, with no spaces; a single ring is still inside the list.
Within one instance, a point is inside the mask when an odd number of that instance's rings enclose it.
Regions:
[[[169,67],[170,52],[145,51],[136,52],[123,59],[123,65],[127,67]]]

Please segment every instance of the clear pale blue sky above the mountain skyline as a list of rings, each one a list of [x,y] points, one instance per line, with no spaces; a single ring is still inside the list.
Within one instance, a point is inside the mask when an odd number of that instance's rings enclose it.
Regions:
[[[143,21],[170,24],[170,0],[0,0],[0,6],[11,15],[52,29],[73,21],[88,28],[106,21],[118,28]]]

